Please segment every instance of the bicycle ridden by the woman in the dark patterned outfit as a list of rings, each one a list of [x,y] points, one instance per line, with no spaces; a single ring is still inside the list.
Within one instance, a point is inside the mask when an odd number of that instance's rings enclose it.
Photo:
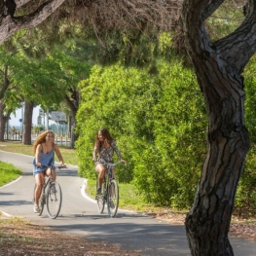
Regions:
[[[102,194],[97,195],[95,198],[99,213],[103,213],[105,203],[107,203],[108,214],[112,218],[116,216],[119,205],[119,186],[113,177],[113,169],[115,165],[120,163],[125,164],[123,161],[119,161],[115,164],[102,163],[106,165],[105,175],[102,182]],[[96,181],[96,189],[97,188],[98,181]]]

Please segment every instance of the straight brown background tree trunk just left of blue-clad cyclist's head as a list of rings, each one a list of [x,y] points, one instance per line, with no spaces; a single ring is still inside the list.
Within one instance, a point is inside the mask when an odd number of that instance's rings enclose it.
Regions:
[[[31,145],[32,117],[34,104],[25,100],[22,143]]]

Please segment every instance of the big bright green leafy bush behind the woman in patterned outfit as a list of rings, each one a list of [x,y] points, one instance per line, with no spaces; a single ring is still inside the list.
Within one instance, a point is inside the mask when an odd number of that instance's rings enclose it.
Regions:
[[[147,202],[188,207],[206,150],[201,91],[179,61],[159,61],[156,68],[151,75],[150,68],[94,66],[90,79],[81,82],[80,173],[95,177],[93,139],[99,128],[109,128],[128,160],[118,169],[119,180],[132,180]]]

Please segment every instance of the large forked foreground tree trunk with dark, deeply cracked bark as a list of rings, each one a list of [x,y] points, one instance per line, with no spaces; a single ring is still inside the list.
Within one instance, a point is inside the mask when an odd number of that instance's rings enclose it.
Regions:
[[[240,27],[212,43],[203,21],[223,1],[211,2],[212,5],[208,5],[207,0],[185,0],[182,13],[187,50],[195,66],[208,116],[207,155],[185,225],[192,255],[228,256],[234,255],[228,233],[238,180],[249,149],[240,74],[255,53],[255,7],[254,1],[250,1],[253,11]]]

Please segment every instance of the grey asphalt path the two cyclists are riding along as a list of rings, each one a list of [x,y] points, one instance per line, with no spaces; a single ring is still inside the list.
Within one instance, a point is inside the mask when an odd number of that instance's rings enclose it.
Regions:
[[[142,255],[191,255],[184,226],[169,225],[151,216],[121,209],[116,218],[110,218],[106,210],[99,214],[95,201],[85,193],[85,179],[77,175],[76,165],[57,170],[57,181],[63,197],[59,216],[50,219],[46,209],[42,216],[38,216],[33,212],[32,203],[32,160],[29,156],[0,151],[0,161],[23,170],[16,181],[0,188],[1,211],[65,234],[120,243],[124,249],[136,250]],[[235,255],[256,255],[256,242],[242,238],[231,238],[231,242]]]

